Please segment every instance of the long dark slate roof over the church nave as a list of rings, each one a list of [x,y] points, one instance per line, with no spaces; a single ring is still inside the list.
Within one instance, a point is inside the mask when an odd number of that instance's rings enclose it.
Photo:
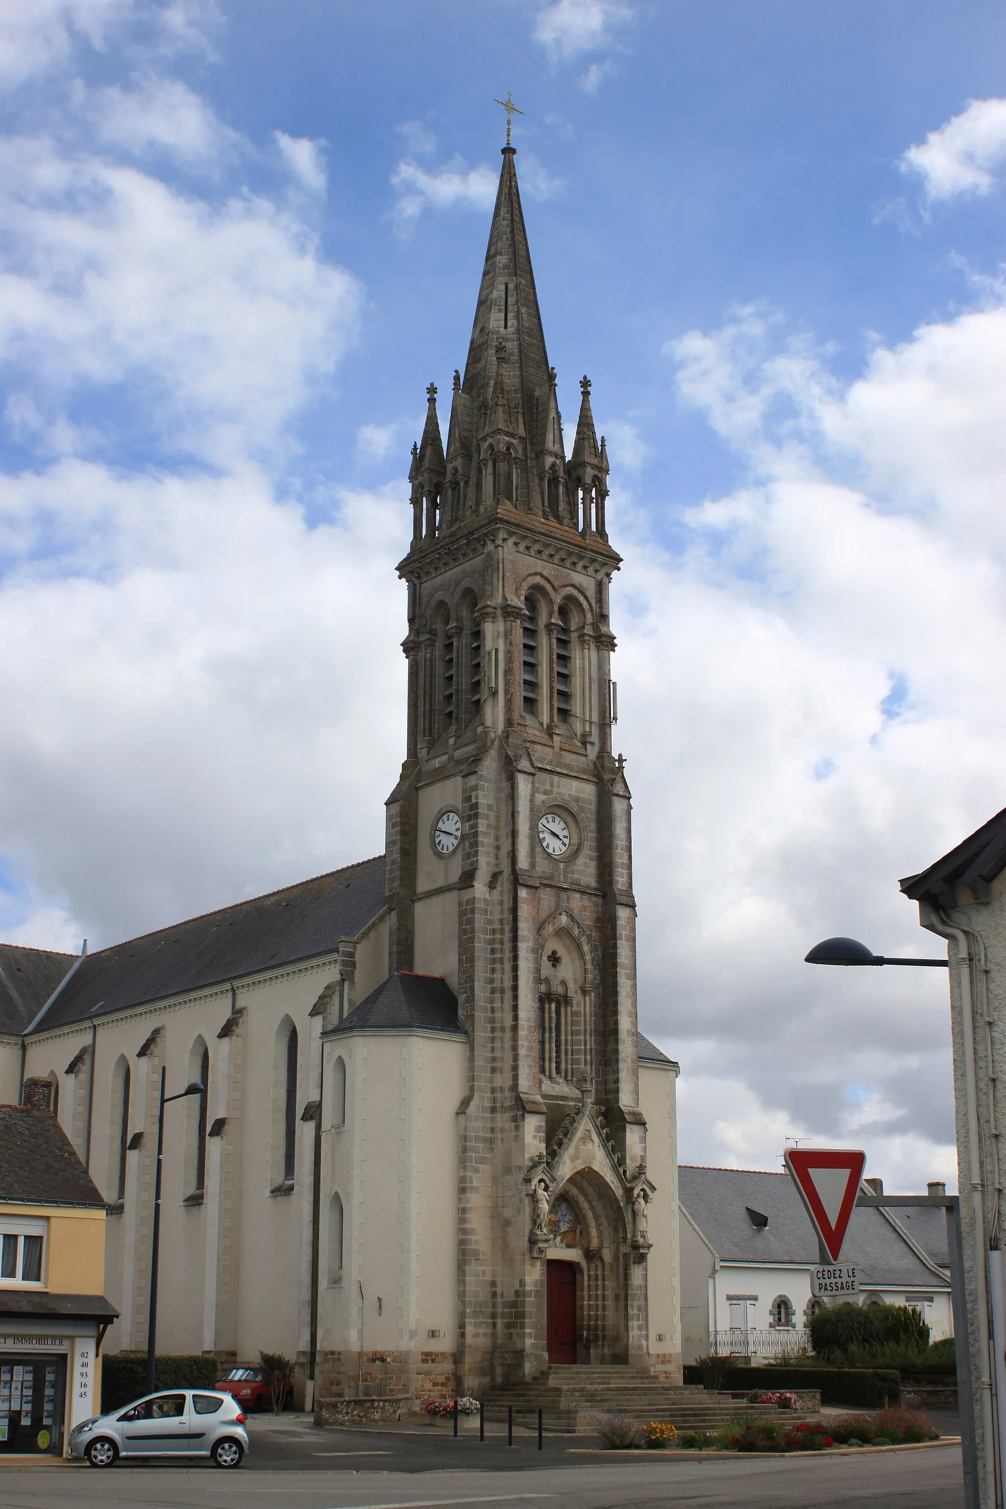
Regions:
[[[385,856],[89,954],[36,1031],[329,954],[385,904]]]

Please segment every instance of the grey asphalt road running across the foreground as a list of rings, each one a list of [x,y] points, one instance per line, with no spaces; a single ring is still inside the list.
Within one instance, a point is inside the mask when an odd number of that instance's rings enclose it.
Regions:
[[[796,1458],[597,1456],[584,1438],[314,1431],[255,1421],[244,1467],[0,1468],[3,1509],[962,1509],[956,1444]]]

